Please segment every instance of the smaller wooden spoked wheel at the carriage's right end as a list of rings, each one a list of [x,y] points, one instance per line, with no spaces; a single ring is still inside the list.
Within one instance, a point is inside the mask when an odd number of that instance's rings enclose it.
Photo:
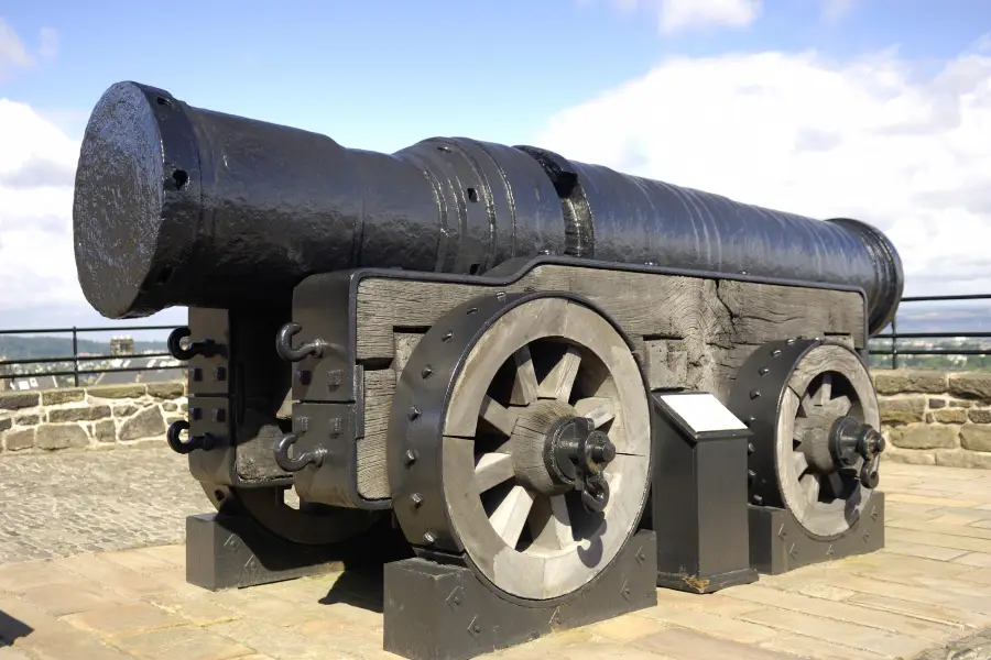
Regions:
[[[857,520],[872,491],[856,469],[839,469],[828,437],[835,421],[852,417],[881,428],[878,397],[867,369],[850,350],[820,344],[805,353],[782,396],[775,469],[785,507],[810,534],[836,537]]]

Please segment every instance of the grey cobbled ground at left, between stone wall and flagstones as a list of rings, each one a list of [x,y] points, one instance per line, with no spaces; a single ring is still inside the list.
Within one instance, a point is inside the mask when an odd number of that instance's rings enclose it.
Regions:
[[[185,539],[213,512],[187,459],[128,449],[0,459],[0,563]]]

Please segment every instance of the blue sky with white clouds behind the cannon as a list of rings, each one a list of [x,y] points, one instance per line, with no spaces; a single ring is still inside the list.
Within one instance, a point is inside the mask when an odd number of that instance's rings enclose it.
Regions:
[[[906,295],[991,293],[988,0],[0,0],[0,328],[122,324],[83,297],[72,238],[119,80],[350,147],[533,144],[854,217]]]

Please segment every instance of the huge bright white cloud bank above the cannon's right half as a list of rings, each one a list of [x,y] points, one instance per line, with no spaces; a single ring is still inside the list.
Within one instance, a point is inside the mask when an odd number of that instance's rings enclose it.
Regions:
[[[906,295],[991,292],[991,48],[924,75],[894,50],[672,58],[552,118],[535,143],[578,161],[894,241]]]

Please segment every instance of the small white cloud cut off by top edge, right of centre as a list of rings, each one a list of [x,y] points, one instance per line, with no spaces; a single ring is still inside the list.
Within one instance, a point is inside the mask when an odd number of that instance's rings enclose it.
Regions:
[[[613,0],[624,12],[638,10],[656,16],[663,34],[723,25],[745,28],[761,12],[761,0]]]

